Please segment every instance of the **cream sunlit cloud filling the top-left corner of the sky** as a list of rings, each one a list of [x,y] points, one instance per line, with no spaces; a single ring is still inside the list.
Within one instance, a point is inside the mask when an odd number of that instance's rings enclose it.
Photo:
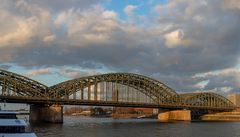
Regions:
[[[0,9],[0,47],[25,46],[32,38],[49,33],[50,14],[47,10],[23,0],[9,1],[7,5]],[[10,7],[15,7],[19,13],[12,12]]]

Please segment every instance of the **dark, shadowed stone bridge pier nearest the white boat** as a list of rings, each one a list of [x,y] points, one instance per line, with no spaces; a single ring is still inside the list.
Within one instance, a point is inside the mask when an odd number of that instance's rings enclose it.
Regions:
[[[32,123],[48,122],[63,123],[63,106],[31,105],[29,120]]]

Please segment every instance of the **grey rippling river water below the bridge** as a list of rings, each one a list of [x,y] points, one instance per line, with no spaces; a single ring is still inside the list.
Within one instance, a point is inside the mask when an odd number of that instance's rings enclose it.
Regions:
[[[155,119],[64,117],[63,124],[29,127],[38,137],[240,137],[239,122],[173,122]]]

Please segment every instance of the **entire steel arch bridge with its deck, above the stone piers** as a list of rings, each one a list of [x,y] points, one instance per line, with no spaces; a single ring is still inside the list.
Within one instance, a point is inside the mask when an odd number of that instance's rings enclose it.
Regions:
[[[231,111],[231,101],[216,93],[178,94],[164,83],[138,74],[109,73],[81,77],[48,87],[0,69],[0,101],[32,104],[31,112],[56,106],[92,105],[162,110]],[[40,109],[41,108],[41,109]],[[38,111],[38,112],[36,112]],[[42,112],[41,112],[42,113]],[[31,114],[30,114],[31,116]]]

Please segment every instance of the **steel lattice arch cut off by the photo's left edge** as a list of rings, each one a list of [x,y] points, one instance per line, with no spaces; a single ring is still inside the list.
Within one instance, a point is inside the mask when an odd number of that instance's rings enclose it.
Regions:
[[[0,88],[2,95],[24,96],[24,97],[48,97],[48,87],[29,79],[3,69],[0,69]]]

